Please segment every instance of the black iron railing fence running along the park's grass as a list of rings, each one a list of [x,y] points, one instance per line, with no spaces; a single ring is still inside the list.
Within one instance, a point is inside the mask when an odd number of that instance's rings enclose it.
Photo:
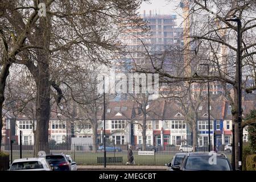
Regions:
[[[11,160],[11,144],[3,144],[1,150],[9,152]],[[39,148],[49,148],[49,153],[71,155],[72,158],[79,165],[101,165],[102,157],[104,157],[104,151],[102,145],[97,145],[97,151],[93,151],[92,143],[76,143],[76,144],[48,144],[40,143]],[[208,146],[197,146],[197,151],[208,152]],[[22,158],[37,157],[34,154],[35,145],[23,144],[21,147]],[[127,149],[128,145],[112,145],[106,146],[106,157],[111,158],[109,163],[112,165],[123,165],[127,162]],[[224,151],[224,147],[218,148],[218,152],[224,152],[226,156],[231,160],[231,151]],[[132,146],[135,164],[137,165],[164,165],[170,162],[172,157],[177,152],[191,152],[190,146],[146,146],[148,154],[142,151],[141,146]],[[154,151],[154,152],[152,152]],[[13,144],[13,160],[20,158],[20,146],[19,144]],[[122,159],[122,160],[121,160]],[[107,160],[108,162],[108,160]]]

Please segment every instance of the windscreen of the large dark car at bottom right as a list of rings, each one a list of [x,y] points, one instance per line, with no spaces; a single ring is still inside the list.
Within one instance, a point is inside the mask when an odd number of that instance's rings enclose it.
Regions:
[[[213,164],[210,164],[213,163]],[[216,163],[210,156],[190,156],[185,164],[185,169],[200,170],[200,171],[230,171],[227,159],[218,158]]]

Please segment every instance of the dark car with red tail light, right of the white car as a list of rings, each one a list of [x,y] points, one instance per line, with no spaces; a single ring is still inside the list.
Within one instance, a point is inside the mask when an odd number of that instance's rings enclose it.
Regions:
[[[46,155],[46,160],[53,171],[71,171],[71,163],[64,154]]]

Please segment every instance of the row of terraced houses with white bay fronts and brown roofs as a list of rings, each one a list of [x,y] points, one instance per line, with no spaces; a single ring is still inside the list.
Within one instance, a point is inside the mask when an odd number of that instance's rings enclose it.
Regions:
[[[232,143],[232,113],[227,101],[216,96],[210,105],[210,138],[213,144],[213,134],[216,135],[216,144]],[[255,109],[256,102],[253,98],[243,99],[243,115]],[[106,136],[114,144],[141,144],[143,114],[137,109],[138,105],[133,101],[108,102],[106,105]],[[98,143],[102,143],[103,115],[98,115]],[[197,134],[199,146],[208,144],[208,106],[202,102],[197,111]],[[152,101],[147,105],[147,130],[146,143],[154,146],[166,146],[168,144],[180,145],[192,143],[192,131],[185,119],[182,107],[174,101]],[[16,140],[19,143],[19,134],[22,131],[22,143],[34,144],[34,128],[36,121],[21,116],[13,118],[6,114],[3,118],[3,141],[10,143]],[[56,143],[71,141],[72,137],[92,137],[92,125],[86,121],[69,122],[60,114],[52,113],[49,121],[49,139]],[[243,140],[247,141],[247,131],[243,130]]]

